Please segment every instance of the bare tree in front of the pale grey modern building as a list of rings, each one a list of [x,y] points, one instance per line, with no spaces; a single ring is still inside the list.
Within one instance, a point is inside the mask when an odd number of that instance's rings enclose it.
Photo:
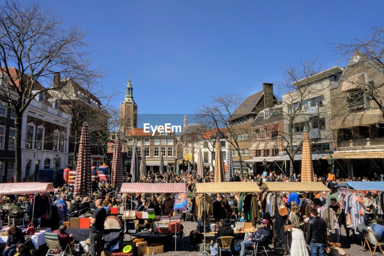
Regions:
[[[299,66],[290,65],[284,69],[283,81],[278,83],[284,129],[274,132],[285,141],[290,176],[294,170],[293,158],[303,143],[303,131],[313,129],[312,144],[332,139],[328,125],[331,119],[328,78],[336,74],[332,69],[322,69],[323,64],[317,58],[301,62]]]

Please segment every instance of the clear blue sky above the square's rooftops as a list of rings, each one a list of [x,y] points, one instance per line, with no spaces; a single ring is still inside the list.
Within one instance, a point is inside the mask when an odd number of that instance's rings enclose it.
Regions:
[[[244,97],[282,68],[318,56],[345,65],[328,42],[383,25],[382,1],[40,1],[88,31],[106,90],[134,82],[140,114],[184,114],[218,92]],[[182,120],[180,120],[182,123]]]

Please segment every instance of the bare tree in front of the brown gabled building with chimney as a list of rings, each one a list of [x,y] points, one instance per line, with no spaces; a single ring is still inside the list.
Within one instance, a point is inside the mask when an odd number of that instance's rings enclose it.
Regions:
[[[218,94],[210,97],[208,105],[202,105],[195,110],[197,120],[200,123],[209,125],[209,127],[217,128],[217,132],[232,145],[233,150],[237,151],[240,162],[240,176],[243,179],[242,154],[238,144],[237,134],[241,131],[250,133],[250,129],[243,127],[235,127],[232,122],[238,117],[234,116],[234,111],[243,103],[244,99],[237,94]],[[220,129],[219,129],[220,128]],[[227,128],[223,130],[222,128]]]

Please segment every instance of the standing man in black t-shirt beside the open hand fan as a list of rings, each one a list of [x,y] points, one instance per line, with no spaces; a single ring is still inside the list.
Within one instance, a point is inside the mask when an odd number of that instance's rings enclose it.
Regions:
[[[92,217],[89,217],[92,223],[91,231],[89,233],[89,248],[91,249],[91,256],[101,255],[101,239],[104,234],[104,221],[107,218],[107,211],[103,208],[103,206],[101,206],[102,204],[103,200],[97,199],[95,202],[96,210],[93,211]]]

